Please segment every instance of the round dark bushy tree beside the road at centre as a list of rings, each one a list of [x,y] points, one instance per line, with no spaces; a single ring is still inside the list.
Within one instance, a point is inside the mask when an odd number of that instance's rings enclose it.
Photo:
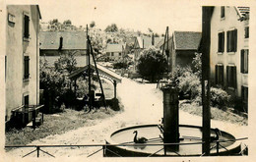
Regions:
[[[155,47],[143,50],[138,62],[139,74],[143,78],[156,81],[157,77],[166,72],[166,69],[167,61],[159,50]]]

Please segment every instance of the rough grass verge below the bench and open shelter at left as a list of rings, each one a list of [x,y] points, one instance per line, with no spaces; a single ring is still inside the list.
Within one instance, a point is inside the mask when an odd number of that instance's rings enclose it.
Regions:
[[[22,130],[13,129],[6,132],[6,145],[26,145],[48,135],[62,135],[81,127],[95,125],[96,120],[112,117],[114,114],[116,112],[110,108],[100,108],[96,112],[93,110],[88,114],[71,109],[53,115],[45,114],[43,124],[34,131],[32,128],[26,127]]]

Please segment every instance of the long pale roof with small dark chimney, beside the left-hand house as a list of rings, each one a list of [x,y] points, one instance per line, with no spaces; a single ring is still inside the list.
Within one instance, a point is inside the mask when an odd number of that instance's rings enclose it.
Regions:
[[[87,49],[84,31],[41,31],[39,33],[40,49],[58,49],[60,37],[63,37],[63,50]]]

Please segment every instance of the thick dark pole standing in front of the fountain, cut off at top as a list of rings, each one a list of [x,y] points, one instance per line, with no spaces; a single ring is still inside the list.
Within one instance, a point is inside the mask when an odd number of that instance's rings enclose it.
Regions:
[[[211,108],[210,108],[210,46],[211,18],[213,7],[202,7],[202,103],[203,103],[203,145],[202,154],[210,155]]]

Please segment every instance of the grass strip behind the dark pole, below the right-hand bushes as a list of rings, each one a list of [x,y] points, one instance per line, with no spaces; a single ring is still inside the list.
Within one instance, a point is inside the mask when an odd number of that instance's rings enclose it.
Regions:
[[[180,102],[179,108],[189,114],[202,116],[202,106],[196,103]],[[248,119],[246,117],[239,116],[229,111],[224,111],[216,107],[211,107],[211,118],[219,121],[226,121],[232,124],[238,124],[241,126],[248,126]]]

